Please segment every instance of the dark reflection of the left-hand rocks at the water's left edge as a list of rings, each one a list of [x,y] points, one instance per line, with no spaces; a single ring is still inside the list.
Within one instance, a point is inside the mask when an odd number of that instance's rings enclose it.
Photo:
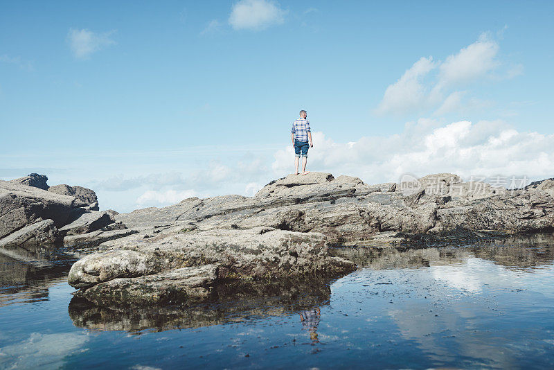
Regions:
[[[0,306],[48,299],[77,258],[42,246],[0,248]]]

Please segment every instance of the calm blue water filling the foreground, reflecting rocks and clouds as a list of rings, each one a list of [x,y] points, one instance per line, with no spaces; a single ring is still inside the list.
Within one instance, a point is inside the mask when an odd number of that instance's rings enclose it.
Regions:
[[[554,367],[554,237],[335,248],[359,269],[189,308],[73,299],[75,258],[0,251],[0,369]]]

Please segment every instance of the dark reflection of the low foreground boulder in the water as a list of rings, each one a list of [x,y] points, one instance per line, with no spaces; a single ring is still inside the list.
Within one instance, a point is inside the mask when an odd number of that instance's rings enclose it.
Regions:
[[[235,282],[217,286],[211,301],[195,306],[107,308],[73,297],[69,304],[69,316],[75,326],[94,331],[165,331],[296,312],[319,312],[319,307],[329,303],[330,284],[334,279],[328,276],[269,283]],[[313,323],[311,319],[310,324]]]

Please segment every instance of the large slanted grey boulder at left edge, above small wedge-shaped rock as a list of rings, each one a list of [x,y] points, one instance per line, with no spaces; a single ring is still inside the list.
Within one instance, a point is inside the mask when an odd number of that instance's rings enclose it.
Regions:
[[[39,218],[51,219],[56,227],[62,227],[71,211],[83,205],[75,197],[0,180],[0,238]]]

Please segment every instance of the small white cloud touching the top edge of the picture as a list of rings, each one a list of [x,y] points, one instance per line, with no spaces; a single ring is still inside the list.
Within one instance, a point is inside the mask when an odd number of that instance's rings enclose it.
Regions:
[[[287,12],[268,0],[240,0],[233,5],[229,24],[235,30],[261,30],[282,24]]]

